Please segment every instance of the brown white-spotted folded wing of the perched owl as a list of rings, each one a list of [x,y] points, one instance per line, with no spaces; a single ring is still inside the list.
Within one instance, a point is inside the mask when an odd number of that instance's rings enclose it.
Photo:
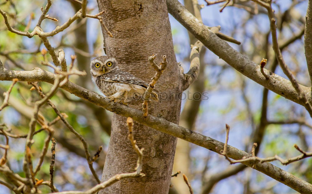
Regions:
[[[149,84],[144,82],[142,79],[135,77],[131,73],[120,70],[113,70],[109,73],[105,73],[100,77],[100,79],[106,82],[129,83],[142,86],[143,88],[149,87]],[[159,92],[156,89],[154,89],[154,91]]]

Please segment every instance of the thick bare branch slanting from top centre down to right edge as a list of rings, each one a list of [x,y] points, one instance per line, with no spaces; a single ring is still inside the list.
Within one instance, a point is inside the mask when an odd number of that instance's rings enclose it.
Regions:
[[[198,40],[200,40],[209,50],[217,54],[221,59],[231,65],[238,72],[246,77],[254,80],[256,83],[270,89],[271,91],[293,101],[298,104],[304,105],[298,99],[298,93],[293,88],[291,82],[282,78],[275,73],[271,73],[264,69],[266,74],[270,74],[270,78],[262,75],[259,65],[255,64],[250,59],[234,50],[225,41],[213,34],[207,26],[197,20],[183,5],[176,0],[167,0],[167,7],[169,13],[173,15],[185,28],[187,28]],[[299,85],[302,92],[310,100],[310,88]]]

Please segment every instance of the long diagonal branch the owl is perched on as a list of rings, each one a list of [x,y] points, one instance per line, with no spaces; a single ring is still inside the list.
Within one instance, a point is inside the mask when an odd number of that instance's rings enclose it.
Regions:
[[[259,70],[260,71],[260,70]],[[263,75],[261,74],[263,77]],[[12,80],[13,78],[18,78],[19,81],[43,81],[47,83],[54,83],[55,75],[53,73],[44,71],[39,68],[35,68],[32,71],[9,71],[6,70],[4,73],[0,74],[0,80]],[[154,117],[152,115],[143,118],[143,112],[136,110],[131,107],[121,105],[119,103],[114,104],[110,102],[109,99],[99,95],[98,93],[92,92],[85,88],[82,88],[74,83],[67,82],[61,88],[65,89],[68,92],[80,97],[86,101],[94,103],[95,105],[101,106],[108,111],[114,112],[122,116],[131,116],[135,121],[138,121],[144,125],[147,125],[151,128],[154,128],[163,133],[173,135],[180,139],[186,140],[193,144],[199,145],[201,147],[207,148],[211,151],[219,153],[219,150],[222,150],[224,143],[214,140],[205,135],[196,133],[192,130],[188,130],[179,125],[171,123],[163,118]],[[227,154],[232,159],[241,159],[244,156],[250,156],[250,154],[239,150],[230,145],[227,146]],[[254,163],[251,161],[245,161],[243,164],[253,167]],[[285,185],[293,188],[294,190],[302,193],[309,193],[312,191],[312,185],[301,180],[298,177],[272,165],[271,163],[259,163],[256,167],[261,173],[264,173],[275,180],[284,183]]]

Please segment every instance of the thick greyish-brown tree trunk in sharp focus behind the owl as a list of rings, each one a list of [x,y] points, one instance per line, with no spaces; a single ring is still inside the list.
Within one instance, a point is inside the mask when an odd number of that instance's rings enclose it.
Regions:
[[[167,56],[168,66],[156,84],[161,92],[180,92],[180,69],[176,62],[171,27],[165,0],[98,0],[104,23],[113,34],[109,37],[102,28],[106,53],[115,57],[121,70],[150,82],[155,74],[148,57],[157,54],[156,61]],[[103,27],[103,26],[102,26]],[[161,98],[161,97],[160,97]],[[129,103],[141,109],[142,101]],[[149,103],[149,114],[178,123],[181,101],[161,99]],[[139,123],[134,124],[134,138],[144,148],[143,178],[127,179],[115,183],[101,193],[162,193],[167,194],[170,185],[176,138]],[[116,173],[133,172],[137,155],[128,140],[126,118],[115,115],[109,149],[103,170],[102,181]]]

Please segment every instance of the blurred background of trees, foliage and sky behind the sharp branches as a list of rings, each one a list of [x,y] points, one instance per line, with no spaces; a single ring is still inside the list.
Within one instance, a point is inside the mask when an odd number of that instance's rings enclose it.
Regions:
[[[209,4],[209,1],[185,0],[185,7],[197,18],[193,3],[200,10],[202,21],[207,26],[221,26],[221,32],[234,37],[241,45],[229,43],[238,52],[252,61],[260,63],[262,58],[268,59],[267,69],[285,77],[278,66],[272,49],[272,38],[267,12],[251,1],[231,1],[222,12],[219,9],[224,4]],[[0,2],[2,10],[7,12],[11,26],[20,31],[29,31],[36,26],[41,15],[39,7],[46,1],[12,0]],[[299,83],[310,87],[309,73],[306,70],[304,29],[305,14],[308,0],[276,0],[273,2],[280,49],[289,68]],[[58,21],[45,20],[42,28],[53,30],[66,22],[69,17],[80,9],[74,1],[55,0],[49,14]],[[88,13],[97,14],[95,1],[88,2]],[[173,43],[176,58],[184,69],[188,69],[190,44],[196,39],[188,34],[181,24],[170,16]],[[48,71],[53,69],[40,64],[44,60],[41,50],[44,45],[35,36],[32,39],[7,31],[3,17],[0,17],[0,59],[6,69],[31,70],[40,67]],[[90,59],[104,55],[103,35],[98,20],[78,19],[66,31],[49,39],[57,50],[64,49],[66,60],[70,55],[77,55],[77,69],[87,72],[87,75],[71,76],[70,80],[82,87],[100,91],[91,82],[89,73]],[[0,93],[7,91],[11,82],[2,81]],[[43,91],[49,90],[47,83],[40,83]],[[0,113],[1,123],[5,130],[14,134],[27,134],[34,103],[40,99],[37,92],[30,91],[27,83],[18,82],[10,95],[10,106]],[[201,73],[188,92],[209,92],[209,99],[196,101],[184,99],[182,102],[180,125],[195,130],[203,135],[224,141],[224,124],[231,125],[229,144],[250,152],[251,145],[258,143],[256,152],[260,157],[270,157],[278,154],[282,158],[297,155],[293,144],[298,144],[303,150],[311,150],[312,123],[304,107],[291,102],[280,95],[271,92],[234,70],[209,50],[201,52]],[[187,96],[187,95],[186,95]],[[3,96],[0,96],[3,99]],[[101,175],[110,138],[112,114],[103,108],[65,92],[57,90],[51,99],[68,122],[85,138],[93,155],[100,145],[104,150],[100,159],[94,164],[96,173]],[[47,121],[53,121],[57,116],[50,106],[44,105],[40,110]],[[64,124],[56,122],[53,128],[64,128]],[[39,127],[36,128],[37,130]],[[95,135],[96,134],[96,135]],[[100,135],[99,135],[100,134]],[[44,146],[45,133],[34,136],[36,144],[32,146],[33,158],[38,158]],[[92,177],[85,161],[85,151],[80,140],[66,130],[55,130],[56,162],[54,184],[59,191],[86,190],[97,182]],[[24,145],[26,139],[10,138],[7,165],[17,174],[25,176],[22,169]],[[5,137],[0,136],[1,144]],[[4,150],[1,149],[1,154]],[[49,179],[51,152],[48,151],[38,176]],[[311,183],[311,159],[301,160],[283,166],[279,162],[274,165]],[[243,164],[229,165],[223,156],[207,149],[178,140],[173,173],[178,170],[185,173],[193,187],[194,193],[295,193],[291,188],[273,180],[266,175]],[[1,179],[5,179],[0,174]],[[188,187],[181,175],[172,178],[172,193],[189,193]],[[43,193],[50,192],[49,187],[40,187]],[[0,185],[0,194],[10,191]]]

